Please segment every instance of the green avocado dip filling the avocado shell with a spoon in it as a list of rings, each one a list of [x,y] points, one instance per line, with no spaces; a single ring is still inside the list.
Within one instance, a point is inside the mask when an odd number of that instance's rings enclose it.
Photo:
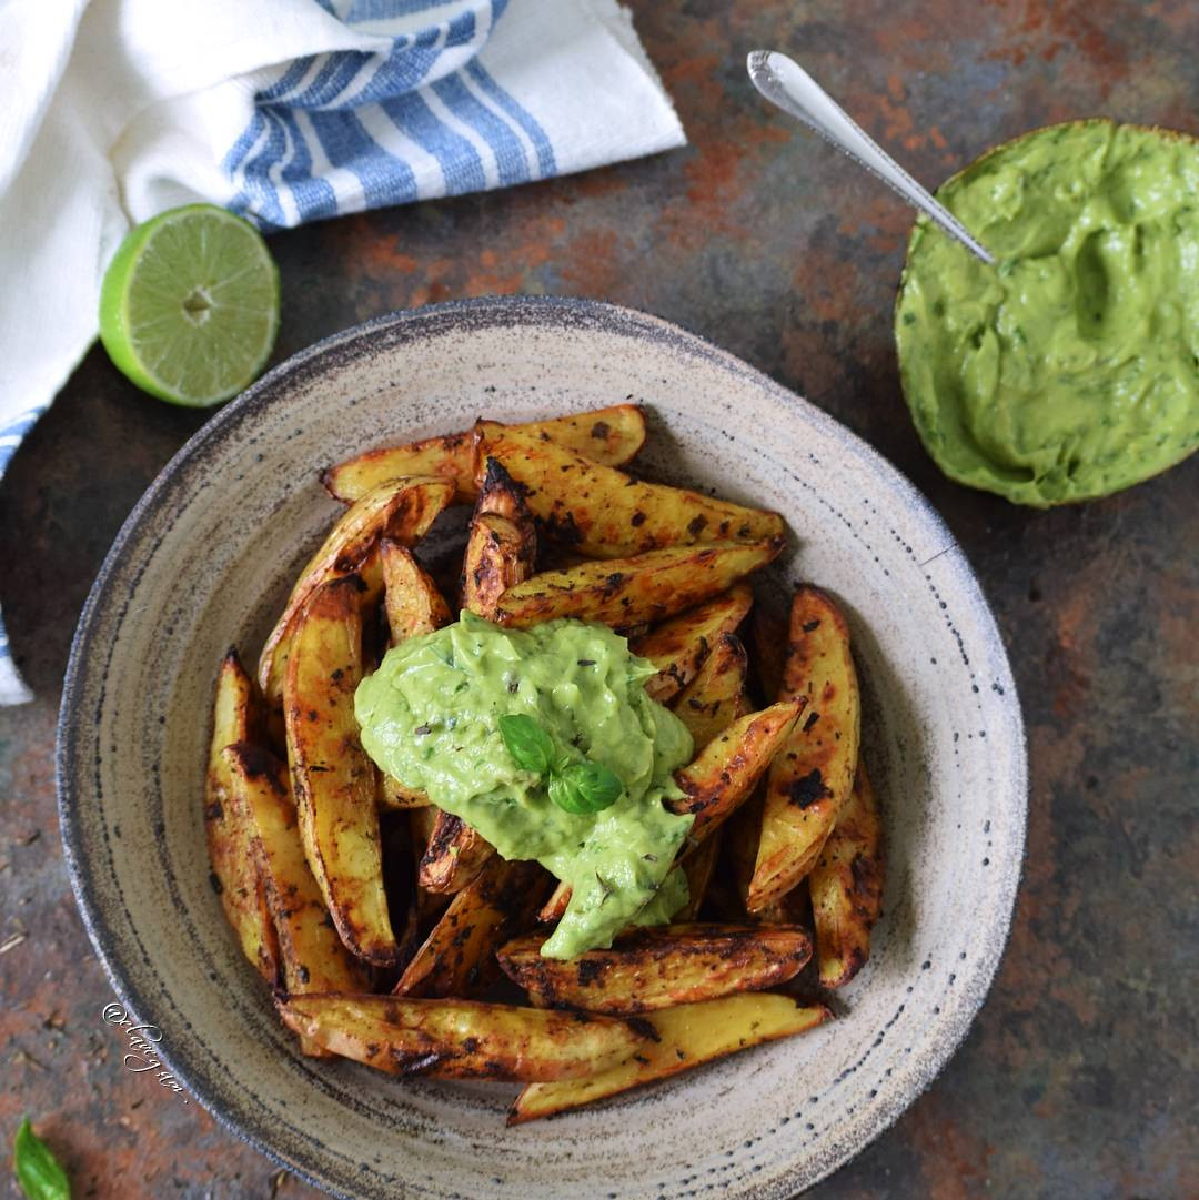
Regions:
[[[1044,508],[1199,444],[1199,142],[1107,120],[1036,130],[921,218],[895,307],[904,394],[941,469]]]

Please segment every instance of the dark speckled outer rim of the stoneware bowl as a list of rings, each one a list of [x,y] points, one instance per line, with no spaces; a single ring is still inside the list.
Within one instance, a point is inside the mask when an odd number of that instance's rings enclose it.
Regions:
[[[293,354],[264,374],[257,383],[246,389],[241,396],[232,401],[221,412],[216,413],[210,421],[203,425],[170,458],[166,467],[162,468],[157,478],[133,506],[133,510],[125,520],[112,547],[106,554],[96,581],[88,594],[88,600],[79,616],[79,623],[71,643],[71,654],[67,660],[62,684],[62,700],[59,709],[54,757],[59,827],[64,857],[88,937],[116,996],[133,1013],[139,1014],[146,1010],[146,1008],[140,1002],[142,997],[138,995],[137,989],[130,984],[116,949],[108,938],[104,914],[101,905],[97,902],[90,874],[88,851],[82,841],[80,826],[76,821],[79,797],[73,775],[73,768],[78,766],[76,752],[77,714],[82,710],[78,701],[80,694],[85,690],[92,626],[96,623],[97,616],[114,600],[112,593],[116,565],[124,557],[127,547],[136,542],[143,522],[155,511],[163,493],[176,481],[178,476],[185,475],[193,466],[202,462],[206,448],[220,438],[226,437],[240,421],[258,409],[274,403],[276,398],[286,396],[296,378],[302,379],[304,377],[323,373],[329,370],[337,370],[344,361],[352,360],[360,348],[368,348],[370,342],[384,331],[392,335],[402,335],[397,337],[397,341],[412,342],[419,341],[430,331],[440,331],[445,326],[468,326],[472,323],[478,323],[479,318],[492,318],[487,323],[493,325],[521,324],[532,328],[560,326],[575,323],[590,325],[607,332],[624,332],[625,335],[648,338],[651,341],[682,343],[697,359],[719,365],[724,370],[755,384],[771,398],[781,401],[796,413],[797,419],[816,426],[845,450],[861,458],[870,468],[871,473],[881,473],[889,476],[907,503],[911,504],[913,511],[928,521],[931,528],[943,534],[945,545],[949,547],[949,553],[945,557],[953,562],[954,582],[960,589],[960,595],[981,617],[981,626],[985,630],[984,636],[987,642],[990,643],[988,649],[995,653],[1000,661],[1008,664],[1007,649],[1003,646],[999,626],[990,605],[987,602],[982,586],[941,515],[933,508],[923,493],[888,460],[857,434],[834,420],[834,418],[829,416],[810,401],[775,383],[767,374],[756,367],[751,367],[735,354],[715,346],[706,337],[690,332],[660,317],[601,300],[575,296],[529,295],[449,300],[440,304],[426,305],[420,308],[384,313],[360,325],[332,334],[314,342],[306,349]],[[999,946],[990,964],[989,977],[979,980],[976,992],[977,1000],[972,1007],[963,1007],[953,1014],[946,1014],[949,1024],[937,1043],[937,1055],[927,1063],[925,1069],[916,1080],[916,1085],[910,1093],[903,1098],[898,1098],[886,1110],[880,1109],[875,1127],[865,1136],[862,1136],[856,1145],[847,1146],[844,1142],[839,1144],[837,1147],[838,1152],[829,1156],[827,1163],[823,1164],[822,1169],[815,1176],[804,1172],[802,1166],[796,1165],[786,1175],[777,1178],[774,1182],[778,1188],[785,1189],[778,1190],[780,1198],[792,1195],[797,1187],[805,1189],[814,1187],[856,1158],[886,1133],[927,1091],[929,1085],[957,1054],[990,992],[1011,937],[1012,918],[1015,911],[1015,900],[1026,858],[1029,800],[1027,737],[1019,697],[1014,689],[1009,692],[1009,697],[1012,718],[1015,725],[1015,736],[1012,738],[1011,755],[1013,761],[1011,767],[1013,780],[1012,802],[1013,805],[1018,806],[1012,815],[1013,817],[1019,817],[1018,822],[1013,821],[1013,824],[1019,826],[1019,838],[1013,851],[1013,857],[1018,858],[1018,862],[1013,864],[1011,872],[1012,884],[1008,902],[1002,906],[1002,912],[996,913],[995,917],[996,924],[993,926],[993,936]],[[1003,918],[1002,929],[997,923],[1000,917]],[[221,1099],[209,1090],[208,1080],[193,1072],[188,1063],[180,1061],[182,1056],[176,1058],[175,1052],[168,1051],[164,1046],[160,1046],[158,1051],[163,1066],[187,1087],[188,1092],[199,1100],[222,1127],[253,1146],[271,1162],[277,1163],[318,1190],[334,1195],[338,1200],[358,1200],[358,1196],[353,1193],[330,1190],[329,1186],[314,1172],[310,1172],[306,1166],[284,1158],[258,1130],[247,1128],[234,1120],[224,1110]]]

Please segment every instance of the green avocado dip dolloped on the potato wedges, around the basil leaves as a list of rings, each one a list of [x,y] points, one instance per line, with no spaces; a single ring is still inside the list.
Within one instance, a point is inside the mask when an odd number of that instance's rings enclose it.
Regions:
[[[384,772],[504,858],[534,858],[571,886],[547,958],[611,946],[627,925],[663,924],[687,904],[671,864],[694,817],[663,802],[682,796],[672,773],[690,761],[691,736],[646,695],[653,673],[605,625],[511,630],[463,612],[388,650],[354,696],[362,745]],[[619,798],[594,812],[559,808],[545,778],[512,757],[499,727],[508,715],[532,718],[559,763],[615,772]]]

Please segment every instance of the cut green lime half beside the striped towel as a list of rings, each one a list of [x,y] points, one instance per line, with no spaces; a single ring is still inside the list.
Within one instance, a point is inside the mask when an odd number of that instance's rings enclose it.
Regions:
[[[100,290],[100,340],[143,391],[205,408],[262,372],[278,332],[278,270],[262,235],[214,204],[139,224]]]

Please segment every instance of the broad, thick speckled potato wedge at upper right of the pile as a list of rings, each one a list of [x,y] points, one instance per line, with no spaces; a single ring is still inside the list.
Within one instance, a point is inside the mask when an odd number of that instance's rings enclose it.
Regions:
[[[783,535],[777,512],[646,484],[527,430],[494,421],[480,421],[478,430],[482,451],[498,458],[524,488],[524,502],[548,536],[588,558],[629,558],[666,546]]]

